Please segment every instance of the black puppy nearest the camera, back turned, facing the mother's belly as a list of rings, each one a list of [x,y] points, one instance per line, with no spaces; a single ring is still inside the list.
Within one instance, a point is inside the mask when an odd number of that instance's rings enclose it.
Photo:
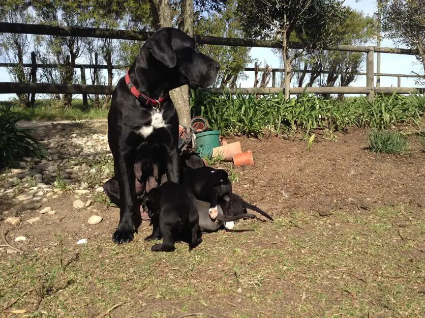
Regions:
[[[152,246],[152,251],[171,252],[174,242],[185,241],[189,248],[201,244],[198,209],[195,199],[181,185],[167,181],[147,193],[142,206],[147,209],[153,232],[146,241],[163,238],[162,244]]]

